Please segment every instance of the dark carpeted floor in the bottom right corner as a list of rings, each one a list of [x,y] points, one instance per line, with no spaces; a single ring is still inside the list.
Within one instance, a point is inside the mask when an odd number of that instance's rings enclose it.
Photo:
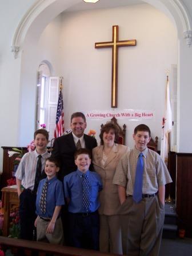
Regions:
[[[192,255],[192,238],[162,239],[159,256]]]

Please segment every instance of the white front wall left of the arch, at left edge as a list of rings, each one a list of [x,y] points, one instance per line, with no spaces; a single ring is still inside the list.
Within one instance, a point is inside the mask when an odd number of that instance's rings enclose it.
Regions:
[[[0,8],[0,147],[17,146],[21,59],[14,59],[11,41],[21,17],[34,0],[1,1]],[[0,149],[0,171],[2,170]]]

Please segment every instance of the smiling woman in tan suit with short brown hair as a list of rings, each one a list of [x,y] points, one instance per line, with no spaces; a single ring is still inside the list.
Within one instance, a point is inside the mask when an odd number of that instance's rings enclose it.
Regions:
[[[114,123],[102,127],[101,146],[93,149],[93,165],[101,176],[103,190],[100,192],[100,251],[122,254],[121,227],[118,209],[120,206],[117,186],[113,184],[115,168],[128,147],[117,144],[119,128]]]

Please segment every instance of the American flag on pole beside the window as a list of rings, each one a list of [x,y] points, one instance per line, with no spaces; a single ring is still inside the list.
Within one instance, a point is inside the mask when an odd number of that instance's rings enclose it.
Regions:
[[[56,125],[54,131],[54,137],[57,138],[64,133],[64,113],[63,113],[63,97],[60,89],[59,99],[57,105]]]

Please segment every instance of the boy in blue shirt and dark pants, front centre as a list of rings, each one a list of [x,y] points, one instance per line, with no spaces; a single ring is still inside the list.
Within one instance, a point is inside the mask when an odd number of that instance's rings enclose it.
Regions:
[[[89,170],[90,152],[79,149],[74,154],[77,171],[64,177],[65,198],[69,211],[70,245],[99,250],[100,176]]]

